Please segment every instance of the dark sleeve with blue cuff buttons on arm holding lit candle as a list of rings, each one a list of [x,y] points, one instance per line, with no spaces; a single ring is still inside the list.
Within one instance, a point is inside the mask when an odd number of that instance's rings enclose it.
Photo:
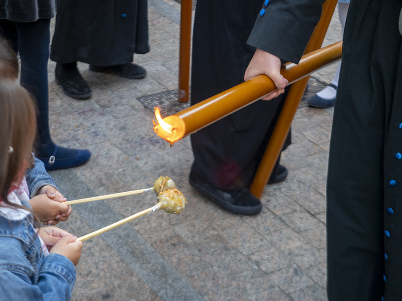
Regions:
[[[263,5],[247,43],[297,64],[320,20],[324,2],[270,0]]]

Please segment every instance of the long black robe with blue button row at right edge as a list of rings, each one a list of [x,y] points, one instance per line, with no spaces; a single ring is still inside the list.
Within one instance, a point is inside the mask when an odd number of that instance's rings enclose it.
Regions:
[[[352,0],[327,184],[328,298],[402,300],[399,0]]]

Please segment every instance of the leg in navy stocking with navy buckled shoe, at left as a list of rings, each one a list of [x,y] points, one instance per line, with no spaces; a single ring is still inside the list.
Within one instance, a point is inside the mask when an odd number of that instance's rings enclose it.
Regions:
[[[35,97],[38,106],[37,158],[47,170],[70,168],[85,163],[90,152],[56,145],[49,129],[49,90],[47,63],[49,59],[49,19],[29,23],[15,23],[18,52],[21,57],[21,85]]]

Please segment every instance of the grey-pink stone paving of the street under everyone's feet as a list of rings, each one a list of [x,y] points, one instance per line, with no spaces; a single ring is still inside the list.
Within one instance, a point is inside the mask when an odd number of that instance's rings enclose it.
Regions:
[[[325,186],[332,109],[300,104],[293,143],[283,152],[288,178],[268,185],[256,216],[228,213],[188,185],[189,137],[172,147],[152,130],[153,112],[137,98],[177,88],[179,9],[149,0],[151,51],[135,55],[144,79],[79,68],[92,88],[88,100],[64,95],[49,62],[53,139],[85,147],[85,165],[50,172],[69,199],[151,187],[170,176],[188,204],[179,215],[143,216],[84,242],[73,301],[326,300]],[[335,14],[326,45],[341,38]],[[310,90],[336,70],[316,72]],[[313,94],[310,92],[310,94]],[[73,205],[60,227],[87,234],[153,206],[152,192]]]

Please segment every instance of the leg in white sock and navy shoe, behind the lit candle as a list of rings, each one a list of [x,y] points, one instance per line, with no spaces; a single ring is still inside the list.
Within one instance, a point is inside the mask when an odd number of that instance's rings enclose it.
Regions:
[[[349,3],[338,2],[338,15],[339,15],[339,22],[341,23],[342,39],[348,9],[349,9]],[[338,88],[340,70],[341,70],[341,61],[338,63],[337,71],[331,83],[323,90],[316,93],[316,95],[314,95],[307,101],[310,106],[317,108],[327,108],[335,105],[336,90]]]

